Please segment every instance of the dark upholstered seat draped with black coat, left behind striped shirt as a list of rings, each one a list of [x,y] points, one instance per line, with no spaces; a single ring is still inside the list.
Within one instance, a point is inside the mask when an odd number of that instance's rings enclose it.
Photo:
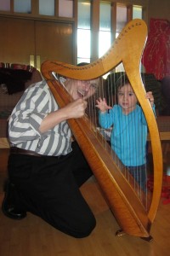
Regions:
[[[42,80],[41,73],[23,64],[0,63],[0,148],[8,147],[8,116],[24,90]]]

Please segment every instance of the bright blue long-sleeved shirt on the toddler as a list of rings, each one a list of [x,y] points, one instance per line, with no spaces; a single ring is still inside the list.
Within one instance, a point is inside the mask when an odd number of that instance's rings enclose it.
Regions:
[[[153,106],[155,113],[155,106]],[[141,166],[146,162],[148,127],[142,108],[137,105],[133,112],[125,115],[122,107],[115,105],[105,113],[99,112],[99,125],[110,128],[111,148],[125,166]]]

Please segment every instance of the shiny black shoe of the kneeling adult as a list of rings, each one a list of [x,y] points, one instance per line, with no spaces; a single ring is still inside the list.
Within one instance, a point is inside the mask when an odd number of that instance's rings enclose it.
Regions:
[[[26,212],[19,210],[18,207],[15,206],[14,195],[16,195],[14,184],[8,181],[5,185],[5,196],[2,203],[3,214],[13,219],[26,218]]]

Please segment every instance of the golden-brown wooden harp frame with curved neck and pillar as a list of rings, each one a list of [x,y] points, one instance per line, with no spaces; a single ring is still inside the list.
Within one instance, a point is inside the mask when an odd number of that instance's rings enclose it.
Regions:
[[[123,63],[127,77],[138,97],[139,104],[144,111],[150,132],[154,163],[154,189],[151,196],[150,207],[146,209],[122,174],[120,166],[111,157],[111,148],[105,149],[103,138],[96,127],[91,124],[88,117],[70,119],[68,123],[74,137],[79,143],[82,152],[91,166],[106,201],[113,212],[121,229],[132,236],[150,237],[150,226],[156,216],[161,196],[162,157],[159,132],[155,115],[150,103],[145,98],[144,84],[140,76],[140,59],[147,36],[147,27],[144,20],[132,20],[124,27],[120,36],[116,38],[111,49],[99,60],[84,67],[73,66],[59,61],[45,61],[42,63],[42,75],[47,80],[54,98],[62,108],[71,101],[71,96],[54,79],[53,73],[61,76],[90,80],[110,72],[119,63]]]

